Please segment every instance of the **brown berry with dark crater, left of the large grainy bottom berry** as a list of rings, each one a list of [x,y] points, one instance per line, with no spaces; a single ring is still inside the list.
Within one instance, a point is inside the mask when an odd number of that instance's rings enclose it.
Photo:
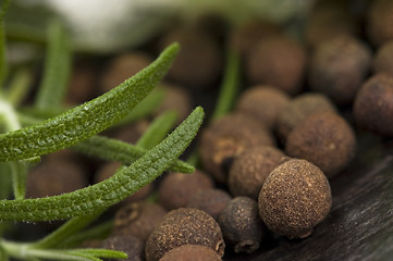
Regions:
[[[128,203],[116,211],[113,234],[133,235],[145,243],[165,214],[167,210],[157,203]]]

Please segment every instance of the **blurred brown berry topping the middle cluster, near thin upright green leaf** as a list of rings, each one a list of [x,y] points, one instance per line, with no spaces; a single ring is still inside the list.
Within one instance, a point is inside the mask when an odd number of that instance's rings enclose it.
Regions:
[[[281,111],[290,103],[283,90],[258,85],[245,90],[237,100],[236,111],[258,119],[268,129],[275,127]]]

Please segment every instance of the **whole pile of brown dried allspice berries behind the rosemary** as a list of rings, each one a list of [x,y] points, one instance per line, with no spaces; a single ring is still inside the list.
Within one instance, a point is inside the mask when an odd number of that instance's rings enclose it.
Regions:
[[[329,179],[344,175],[356,154],[358,129],[393,136],[392,12],[389,0],[317,1],[302,37],[268,21],[234,27],[207,15],[119,54],[106,67],[78,60],[70,102],[116,86],[151,62],[149,52],[179,41],[155,115],[174,109],[181,121],[197,104],[208,112],[195,146],[198,170],[165,173],[131,196],[112,209],[112,234],[86,246],[122,250],[128,260],[236,260],[256,251],[262,257],[263,244],[280,236],[311,235],[332,206]],[[243,89],[231,112],[209,122],[226,49],[240,54]],[[91,75],[98,74],[96,83]],[[148,124],[144,119],[107,135],[136,142]],[[53,162],[64,166],[52,169]],[[28,195],[72,191],[119,166],[86,165],[63,151],[34,170]],[[91,172],[94,177],[84,174]]]

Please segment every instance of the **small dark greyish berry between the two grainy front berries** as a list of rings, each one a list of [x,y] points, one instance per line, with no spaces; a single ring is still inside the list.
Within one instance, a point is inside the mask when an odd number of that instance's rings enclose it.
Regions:
[[[262,240],[263,227],[258,202],[248,197],[233,198],[219,215],[224,240],[235,252],[254,252]]]

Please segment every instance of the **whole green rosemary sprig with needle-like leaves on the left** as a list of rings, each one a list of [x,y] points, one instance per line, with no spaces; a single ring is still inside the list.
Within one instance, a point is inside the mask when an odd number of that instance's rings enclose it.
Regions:
[[[8,71],[2,21],[10,2],[3,1],[0,10],[0,84],[5,83]],[[120,251],[74,247],[85,238],[107,235],[111,223],[86,232],[83,229],[106,209],[152,182],[163,171],[195,171],[194,166],[177,158],[201,125],[201,108],[196,108],[170,135],[168,133],[174,126],[176,114],[164,112],[151,123],[136,145],[98,135],[110,126],[139,119],[157,108],[162,91],[149,92],[168,72],[179,52],[179,45],[168,47],[149,66],[111,91],[65,110],[62,103],[72,61],[67,39],[61,24],[53,23],[48,36],[45,75],[32,110],[20,111],[17,108],[27,94],[32,78],[26,70],[16,73],[21,80],[15,78],[8,88],[4,85],[0,88],[0,226],[5,221],[69,221],[38,241],[15,243],[0,238],[0,260],[99,261],[102,258],[127,258]],[[41,156],[63,148],[121,161],[124,165],[112,177],[96,185],[59,196],[25,199],[30,164],[37,163]],[[12,191],[13,199],[10,199]]]

